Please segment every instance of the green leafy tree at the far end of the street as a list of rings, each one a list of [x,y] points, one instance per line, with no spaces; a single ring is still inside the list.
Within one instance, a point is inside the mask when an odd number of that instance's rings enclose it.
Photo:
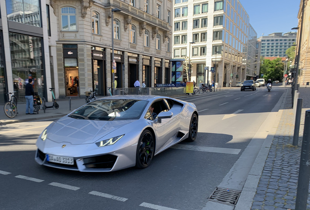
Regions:
[[[265,80],[271,79],[271,81],[282,80],[284,64],[281,62],[281,58],[274,60],[262,59],[263,64],[260,66],[260,73],[263,73]]]

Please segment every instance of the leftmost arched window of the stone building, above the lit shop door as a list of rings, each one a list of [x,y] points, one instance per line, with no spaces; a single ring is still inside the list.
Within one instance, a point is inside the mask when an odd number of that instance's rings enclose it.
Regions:
[[[61,8],[61,31],[77,31],[76,8]]]

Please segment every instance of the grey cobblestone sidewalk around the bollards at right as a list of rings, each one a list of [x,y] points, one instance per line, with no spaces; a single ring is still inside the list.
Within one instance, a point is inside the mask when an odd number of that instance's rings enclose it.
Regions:
[[[259,180],[251,210],[294,210],[297,181],[304,131],[305,111],[310,109],[310,88],[300,89],[304,99],[298,147],[293,147],[294,115],[291,107],[291,90],[288,89],[283,113],[271,144],[265,166]],[[310,209],[310,194],[308,206]]]

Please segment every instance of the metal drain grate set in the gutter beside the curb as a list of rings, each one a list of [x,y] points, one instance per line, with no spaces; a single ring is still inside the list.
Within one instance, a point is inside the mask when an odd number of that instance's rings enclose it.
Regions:
[[[217,187],[209,197],[209,200],[234,206],[238,201],[240,193],[240,191]]]

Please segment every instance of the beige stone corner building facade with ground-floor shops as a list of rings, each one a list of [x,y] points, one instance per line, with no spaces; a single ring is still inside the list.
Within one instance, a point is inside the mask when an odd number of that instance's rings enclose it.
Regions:
[[[51,0],[57,19],[56,63],[59,97],[81,96],[108,87],[170,83],[172,1]],[[120,9],[114,12],[113,8]],[[112,78],[112,21],[116,78]]]

